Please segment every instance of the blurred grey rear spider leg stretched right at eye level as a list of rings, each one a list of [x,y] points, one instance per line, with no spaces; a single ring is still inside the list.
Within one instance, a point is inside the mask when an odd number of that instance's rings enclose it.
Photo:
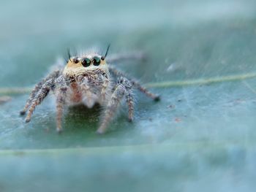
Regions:
[[[117,55],[110,55],[106,60],[108,63],[117,63],[125,60],[144,60],[146,55],[143,52],[134,52],[134,53],[123,53]]]

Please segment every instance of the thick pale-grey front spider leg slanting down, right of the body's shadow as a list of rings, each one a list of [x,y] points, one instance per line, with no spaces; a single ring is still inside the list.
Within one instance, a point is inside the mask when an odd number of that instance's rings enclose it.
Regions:
[[[115,91],[112,93],[112,96],[110,97],[110,101],[108,101],[107,107],[105,109],[105,112],[103,114],[102,122],[97,130],[98,134],[104,134],[108,124],[113,119],[113,116],[116,113],[116,110],[118,109],[118,105],[120,104],[121,99],[123,99],[124,95],[129,95],[129,91],[132,88],[132,85],[130,84],[129,80],[127,80],[124,77],[121,77],[118,79],[118,83],[116,85]],[[127,96],[128,98],[129,96]],[[131,99],[130,97],[129,99]],[[128,100],[127,100],[128,101]],[[129,112],[132,117],[133,112],[133,104],[130,102]]]

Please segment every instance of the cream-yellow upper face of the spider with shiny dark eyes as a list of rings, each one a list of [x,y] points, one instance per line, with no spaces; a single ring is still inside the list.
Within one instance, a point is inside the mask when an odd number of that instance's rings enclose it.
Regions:
[[[64,74],[74,75],[93,71],[94,69],[108,69],[105,58],[101,55],[83,55],[82,57],[72,57],[67,62]]]

